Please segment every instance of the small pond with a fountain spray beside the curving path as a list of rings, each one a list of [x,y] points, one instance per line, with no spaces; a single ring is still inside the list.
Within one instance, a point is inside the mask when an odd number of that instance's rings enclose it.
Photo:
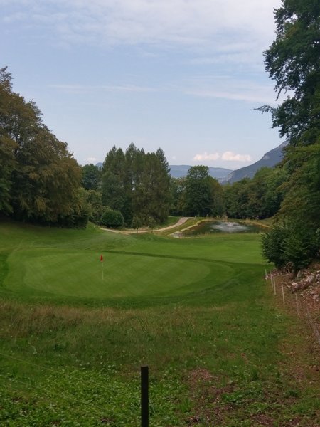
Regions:
[[[242,221],[203,221],[188,230],[174,233],[174,237],[192,237],[211,233],[263,233],[265,229]]]

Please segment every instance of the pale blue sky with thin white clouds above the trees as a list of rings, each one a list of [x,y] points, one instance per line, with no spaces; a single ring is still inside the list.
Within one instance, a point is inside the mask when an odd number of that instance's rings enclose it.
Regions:
[[[281,0],[0,0],[0,68],[80,164],[115,145],[238,169],[281,144],[263,51]]]

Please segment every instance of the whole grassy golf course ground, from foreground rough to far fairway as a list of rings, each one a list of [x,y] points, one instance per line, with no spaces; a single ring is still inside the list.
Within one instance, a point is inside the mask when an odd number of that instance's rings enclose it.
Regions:
[[[150,426],[319,427],[316,352],[260,241],[2,220],[0,425],[139,426],[148,365]]]

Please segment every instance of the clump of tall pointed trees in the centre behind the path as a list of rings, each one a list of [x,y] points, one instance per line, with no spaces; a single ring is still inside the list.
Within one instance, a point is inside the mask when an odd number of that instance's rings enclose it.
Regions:
[[[102,201],[122,212],[129,225],[139,216],[144,225],[149,217],[163,223],[169,215],[170,176],[161,149],[145,153],[130,144],[125,154],[112,147],[102,168]]]

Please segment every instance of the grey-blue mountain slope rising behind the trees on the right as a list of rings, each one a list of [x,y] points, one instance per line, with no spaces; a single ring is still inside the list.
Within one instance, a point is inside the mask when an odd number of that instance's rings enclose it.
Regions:
[[[228,174],[228,176],[225,177],[225,179],[221,181],[222,184],[226,184],[227,182],[232,184],[233,182],[240,181],[243,178],[253,178],[253,176],[255,176],[255,172],[257,172],[258,169],[262,167],[274,167],[276,164],[281,162],[283,158],[282,150],[286,145],[287,142],[282,142],[279,147],[274,148],[270,150],[270,152],[264,154],[262,159],[258,160],[257,162],[231,172]]]

